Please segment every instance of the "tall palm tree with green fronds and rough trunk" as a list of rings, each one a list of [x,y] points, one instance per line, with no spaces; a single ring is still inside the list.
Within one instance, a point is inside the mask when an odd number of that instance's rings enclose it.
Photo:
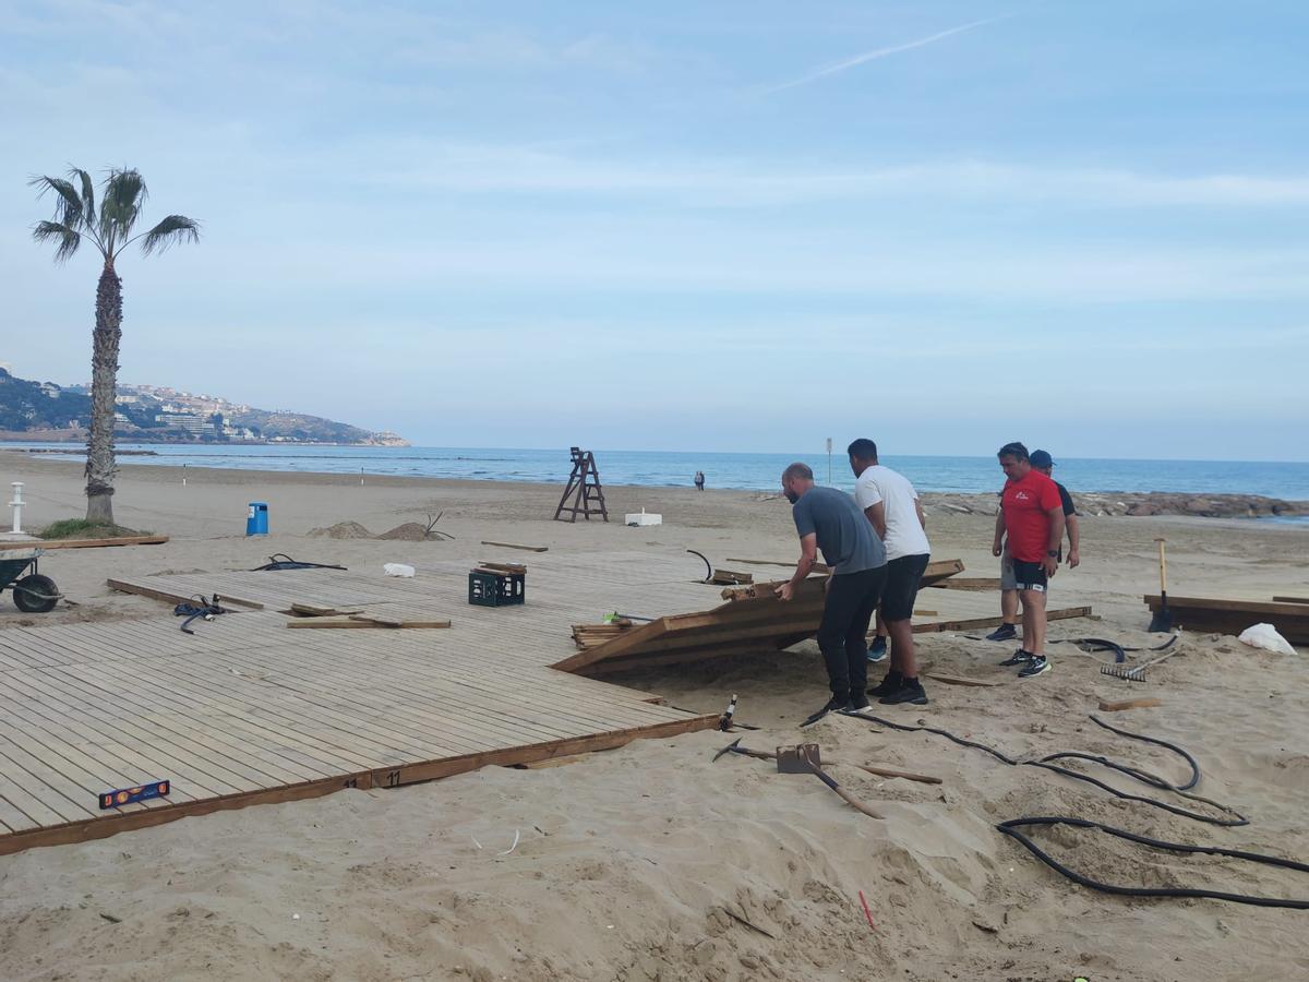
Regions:
[[[76,182],[76,183],[73,183]],[[72,168],[68,178],[34,177],[37,196],[52,194],[55,217],[38,221],[31,237],[54,242],[55,262],[72,258],[82,242],[99,250],[105,268],[96,288],[96,330],[92,333],[90,433],[86,437],[86,520],[97,525],[114,524],[114,397],[118,389],[118,343],[123,336],[123,282],[114,261],[134,242],[141,253],[164,251],[178,242],[196,242],[200,224],[185,215],[169,215],[149,232],[132,234],[148,191],[136,170],[111,169],[99,186],[99,212],[96,189],[85,170]]]

